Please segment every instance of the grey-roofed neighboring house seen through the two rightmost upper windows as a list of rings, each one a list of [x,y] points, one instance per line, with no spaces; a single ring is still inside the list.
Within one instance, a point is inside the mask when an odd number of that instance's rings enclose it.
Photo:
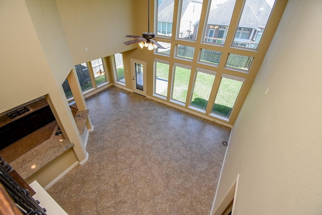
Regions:
[[[224,43],[235,0],[218,5],[209,13],[204,41]],[[271,7],[265,0],[247,0],[241,15],[233,45],[256,48],[271,13]],[[199,22],[194,25],[198,29]]]

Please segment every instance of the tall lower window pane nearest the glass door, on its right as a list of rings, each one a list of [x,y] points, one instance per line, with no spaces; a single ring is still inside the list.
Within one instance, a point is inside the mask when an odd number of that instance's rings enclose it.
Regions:
[[[155,93],[167,97],[169,63],[155,62]]]

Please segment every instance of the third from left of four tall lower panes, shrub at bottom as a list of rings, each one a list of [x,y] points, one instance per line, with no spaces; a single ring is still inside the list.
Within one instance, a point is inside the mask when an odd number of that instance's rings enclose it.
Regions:
[[[191,105],[206,110],[215,75],[197,71]]]

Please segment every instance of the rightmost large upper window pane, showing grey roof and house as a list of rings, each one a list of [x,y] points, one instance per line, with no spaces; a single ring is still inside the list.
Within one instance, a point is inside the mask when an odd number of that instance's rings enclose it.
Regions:
[[[246,0],[233,46],[257,49],[275,0]]]

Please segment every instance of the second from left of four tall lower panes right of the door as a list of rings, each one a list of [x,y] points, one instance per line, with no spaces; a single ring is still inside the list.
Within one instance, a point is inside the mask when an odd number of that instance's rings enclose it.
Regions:
[[[186,103],[187,91],[190,79],[190,69],[175,66],[172,98]]]

